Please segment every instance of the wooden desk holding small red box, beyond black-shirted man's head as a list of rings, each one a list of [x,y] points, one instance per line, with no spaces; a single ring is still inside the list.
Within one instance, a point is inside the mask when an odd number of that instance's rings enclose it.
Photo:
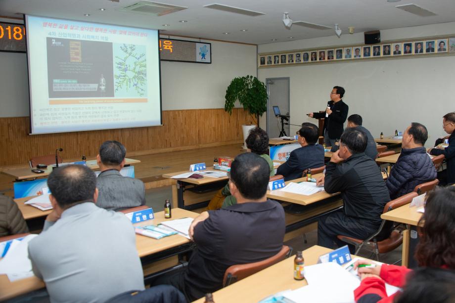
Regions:
[[[278,161],[278,160],[273,160],[274,163],[278,163],[278,165],[274,165],[273,169],[276,170],[282,163],[285,161]],[[223,172],[220,170],[215,170],[212,167],[207,167],[206,171],[215,171],[215,172]],[[163,174],[163,178],[172,178],[175,175],[182,174],[182,173],[189,173],[189,171],[182,171],[182,172],[177,172],[177,173],[165,173]],[[197,173],[197,172],[194,172]],[[214,196],[214,190],[220,189],[225,184],[227,183],[228,177],[221,177],[221,178],[213,178],[213,177],[207,177],[204,176],[203,178],[200,179],[193,179],[193,178],[181,178],[181,179],[175,179],[177,181],[177,184],[172,185],[172,207],[173,208],[182,208],[182,209],[197,209],[201,207],[205,207],[207,201],[210,201],[212,197]],[[216,183],[220,183],[219,186],[217,186]],[[207,185],[209,186],[210,184],[213,184],[213,190],[209,190],[207,192],[203,193],[194,193],[191,192],[187,189],[189,188],[194,188],[197,186],[201,185]],[[183,197],[183,194],[185,193],[185,196],[187,196],[188,199],[185,199]],[[185,200],[190,200],[189,202],[185,203]]]

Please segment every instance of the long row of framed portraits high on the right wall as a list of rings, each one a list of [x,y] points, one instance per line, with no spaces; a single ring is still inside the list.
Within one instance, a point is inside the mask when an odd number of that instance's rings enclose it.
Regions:
[[[259,66],[447,53],[451,45],[455,45],[455,38],[260,55]],[[453,48],[450,48],[451,51],[453,51]]]

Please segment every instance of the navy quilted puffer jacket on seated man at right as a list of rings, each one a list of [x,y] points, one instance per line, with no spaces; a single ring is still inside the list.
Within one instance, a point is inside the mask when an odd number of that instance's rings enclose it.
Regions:
[[[385,184],[390,198],[396,199],[433,179],[436,179],[436,169],[425,147],[403,148]]]

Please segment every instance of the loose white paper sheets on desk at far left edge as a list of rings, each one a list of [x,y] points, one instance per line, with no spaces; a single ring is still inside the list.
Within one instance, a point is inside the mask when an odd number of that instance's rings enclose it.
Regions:
[[[0,274],[8,275],[10,281],[33,276],[32,262],[28,258],[28,243],[37,236],[28,235],[21,241],[12,241],[8,252],[0,260]]]

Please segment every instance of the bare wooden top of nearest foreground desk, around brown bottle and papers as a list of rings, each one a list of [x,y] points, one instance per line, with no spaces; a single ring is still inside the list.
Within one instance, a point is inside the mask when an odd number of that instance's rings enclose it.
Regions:
[[[316,264],[320,255],[330,251],[331,249],[317,245],[304,250],[305,265]],[[355,256],[352,256],[352,258],[355,258]],[[259,302],[278,292],[288,289],[295,290],[308,285],[305,279],[301,281],[294,280],[293,268],[294,256],[214,292],[213,300],[216,303]],[[201,298],[195,303],[204,303],[204,300],[205,298]]]

